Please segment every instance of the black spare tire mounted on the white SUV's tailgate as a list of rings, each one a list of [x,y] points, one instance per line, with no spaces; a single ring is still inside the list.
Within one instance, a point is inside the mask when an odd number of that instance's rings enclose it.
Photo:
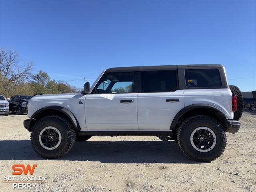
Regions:
[[[234,112],[234,120],[240,120],[243,114],[244,110],[244,100],[241,91],[238,89],[237,86],[230,85],[229,86],[231,92],[233,95],[236,95],[236,100],[237,100],[237,110]]]

